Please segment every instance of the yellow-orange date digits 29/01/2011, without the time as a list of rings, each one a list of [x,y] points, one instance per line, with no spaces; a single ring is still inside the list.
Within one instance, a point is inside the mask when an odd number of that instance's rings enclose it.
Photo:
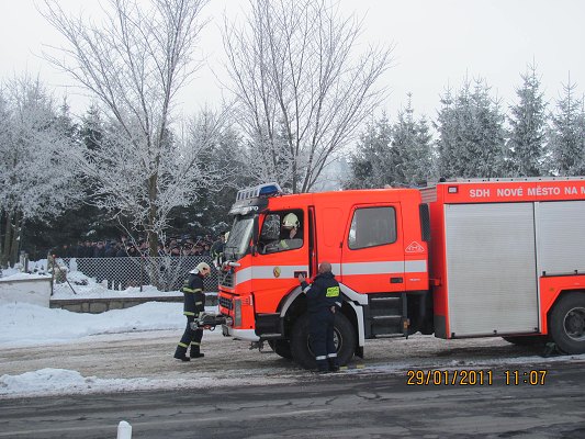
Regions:
[[[407,385],[492,385],[491,370],[408,370]]]

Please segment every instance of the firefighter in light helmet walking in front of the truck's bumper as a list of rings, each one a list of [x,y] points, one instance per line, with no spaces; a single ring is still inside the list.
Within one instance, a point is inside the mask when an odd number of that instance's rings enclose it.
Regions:
[[[181,361],[190,361],[191,358],[204,357],[201,352],[201,339],[203,329],[191,328],[191,323],[205,311],[205,293],[203,293],[203,279],[211,273],[211,268],[205,262],[200,262],[194,270],[189,272],[189,277],[181,289],[184,294],[183,314],[187,316],[187,328],[181,337],[181,341],[175,351],[175,358]],[[191,346],[189,357],[187,349]]]

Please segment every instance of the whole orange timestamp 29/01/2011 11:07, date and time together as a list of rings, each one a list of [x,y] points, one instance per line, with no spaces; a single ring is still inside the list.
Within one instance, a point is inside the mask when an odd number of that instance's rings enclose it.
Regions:
[[[407,385],[493,385],[495,381],[505,385],[544,385],[548,370],[491,369],[413,369],[406,372]]]

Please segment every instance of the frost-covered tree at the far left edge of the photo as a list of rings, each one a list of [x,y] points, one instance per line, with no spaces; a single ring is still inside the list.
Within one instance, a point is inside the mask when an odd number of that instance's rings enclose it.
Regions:
[[[0,206],[3,216],[1,264],[13,263],[26,221],[58,216],[79,196],[70,166],[72,127],[38,79],[7,83],[0,99]]]

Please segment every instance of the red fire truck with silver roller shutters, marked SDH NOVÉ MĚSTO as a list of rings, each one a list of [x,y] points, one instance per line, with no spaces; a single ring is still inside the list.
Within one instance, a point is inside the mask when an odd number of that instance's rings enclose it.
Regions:
[[[312,368],[296,277],[333,266],[338,358],[365,339],[552,339],[585,352],[585,179],[492,179],[417,189],[241,190],[220,270],[223,333]],[[283,219],[297,235],[282,245]],[[290,217],[290,216],[289,216]]]

